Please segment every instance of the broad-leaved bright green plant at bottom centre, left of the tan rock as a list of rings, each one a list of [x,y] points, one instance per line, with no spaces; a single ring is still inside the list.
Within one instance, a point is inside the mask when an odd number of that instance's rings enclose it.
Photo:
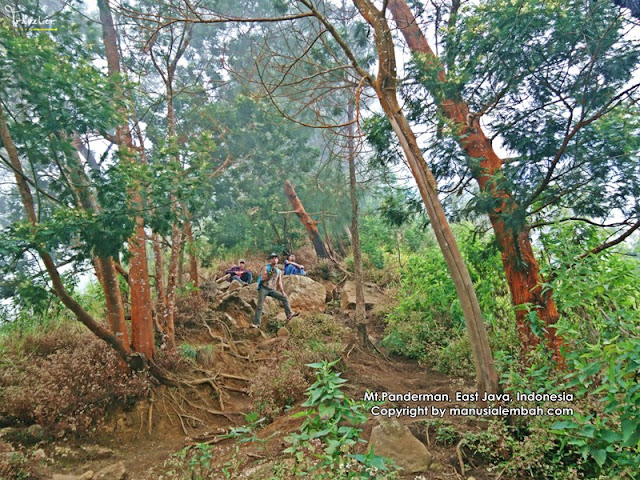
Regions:
[[[298,474],[311,473],[317,478],[378,478],[384,474],[390,478],[392,472],[384,458],[373,451],[364,455],[354,452],[362,441],[357,426],[367,420],[367,405],[341,391],[346,380],[333,371],[338,361],[308,365],[317,371],[316,382],[308,388],[307,401],[302,404],[310,408],[294,414],[305,420],[299,433],[287,437],[291,446],[285,453],[294,455],[302,468]],[[317,461],[309,461],[309,453]]]

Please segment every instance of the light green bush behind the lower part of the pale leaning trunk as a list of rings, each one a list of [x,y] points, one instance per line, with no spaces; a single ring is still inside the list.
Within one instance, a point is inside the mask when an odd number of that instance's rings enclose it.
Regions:
[[[490,236],[458,226],[458,246],[467,262],[494,347],[517,348],[514,314],[500,256]],[[387,316],[384,345],[443,373],[474,372],[464,316],[439,249],[432,243],[405,258],[397,306]]]

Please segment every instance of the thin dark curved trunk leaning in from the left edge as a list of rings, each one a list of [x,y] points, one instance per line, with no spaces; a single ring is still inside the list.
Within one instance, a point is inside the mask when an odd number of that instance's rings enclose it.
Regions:
[[[38,217],[35,211],[33,195],[31,194],[31,189],[26,181],[22,164],[20,163],[20,157],[18,156],[18,150],[16,149],[15,144],[13,143],[13,138],[11,137],[4,115],[4,110],[2,108],[2,102],[0,102],[0,138],[2,139],[4,148],[7,150],[7,154],[9,155],[9,161],[14,171],[16,184],[18,185],[18,191],[20,193],[20,200],[22,201],[22,206],[27,216],[27,220],[33,227],[36,227],[38,224]],[[128,360],[129,354],[131,353],[129,345],[123,342],[122,339],[118,338],[117,335],[104,328],[104,326],[89,315],[89,313],[87,313],[87,311],[84,310],[82,306],[76,302],[73,297],[71,297],[71,295],[69,295],[64,287],[60,273],[58,272],[51,255],[43,248],[38,250],[38,254],[40,255],[49,278],[51,279],[53,291],[56,296],[91,332],[113,347],[123,360]]]

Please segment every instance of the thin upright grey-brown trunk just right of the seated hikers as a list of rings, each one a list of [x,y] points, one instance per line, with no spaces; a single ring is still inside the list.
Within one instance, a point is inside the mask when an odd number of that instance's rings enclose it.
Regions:
[[[353,101],[349,100],[347,106],[347,117],[349,122],[355,121]],[[360,250],[360,230],[358,227],[358,193],[356,179],[356,148],[355,132],[353,123],[347,127],[347,161],[349,163],[349,200],[351,201],[351,246],[353,247],[353,270],[354,282],[356,284],[356,313],[355,323],[360,345],[363,348],[369,346],[369,336],[367,334],[367,313],[364,301],[364,280],[362,274],[362,252]]]

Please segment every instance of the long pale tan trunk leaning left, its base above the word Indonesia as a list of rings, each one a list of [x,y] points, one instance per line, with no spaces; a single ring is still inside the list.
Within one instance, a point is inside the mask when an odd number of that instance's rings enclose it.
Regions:
[[[370,0],[353,0],[354,4],[375,31],[376,49],[378,52],[378,77],[373,82],[380,104],[391,122],[402,149],[407,157],[411,173],[413,174],[420,195],[425,203],[427,213],[433,224],[433,229],[447,262],[453,279],[460,305],[464,313],[471,349],[476,366],[476,378],[479,391],[497,392],[498,376],[493,363],[493,356],[489,347],[487,332],[482,319],[482,312],[476,297],[476,292],[464,264],[458,246],[447,222],[442,204],[438,199],[436,181],[427,166],[422,151],[418,146],[415,134],[409,122],[402,113],[398,102],[396,88],[396,64],[393,37],[384,12],[378,10]]]

